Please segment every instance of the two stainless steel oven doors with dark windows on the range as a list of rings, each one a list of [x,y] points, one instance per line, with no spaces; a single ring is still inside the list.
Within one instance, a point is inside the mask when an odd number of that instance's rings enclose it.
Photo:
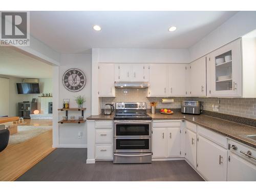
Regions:
[[[151,153],[151,121],[114,121],[114,153]]]

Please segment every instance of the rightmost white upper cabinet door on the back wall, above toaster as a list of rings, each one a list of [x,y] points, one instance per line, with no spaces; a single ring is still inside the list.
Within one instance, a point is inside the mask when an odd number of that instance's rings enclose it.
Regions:
[[[183,63],[168,65],[168,95],[186,96],[186,67]]]

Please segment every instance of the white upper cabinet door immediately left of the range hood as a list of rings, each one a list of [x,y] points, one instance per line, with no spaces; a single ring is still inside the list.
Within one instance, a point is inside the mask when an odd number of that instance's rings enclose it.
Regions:
[[[98,66],[98,96],[115,97],[115,66],[102,63]]]

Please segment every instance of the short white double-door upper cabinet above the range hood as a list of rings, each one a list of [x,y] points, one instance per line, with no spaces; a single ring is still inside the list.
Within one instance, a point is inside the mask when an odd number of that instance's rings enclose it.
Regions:
[[[122,63],[115,66],[115,81],[148,81],[148,65]]]

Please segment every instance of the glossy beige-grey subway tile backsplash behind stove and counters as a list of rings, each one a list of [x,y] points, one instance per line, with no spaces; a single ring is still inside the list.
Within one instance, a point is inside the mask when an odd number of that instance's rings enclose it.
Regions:
[[[219,113],[236,115],[256,119],[256,98],[201,98],[201,97],[170,97],[173,103],[161,103],[162,98],[146,97],[147,89],[116,89],[115,98],[101,98],[101,109],[106,103],[111,102],[146,102],[150,109],[150,102],[158,102],[157,109],[181,108],[182,100],[201,101],[204,110],[213,111],[212,104],[220,105]],[[218,103],[219,101],[219,103]]]

